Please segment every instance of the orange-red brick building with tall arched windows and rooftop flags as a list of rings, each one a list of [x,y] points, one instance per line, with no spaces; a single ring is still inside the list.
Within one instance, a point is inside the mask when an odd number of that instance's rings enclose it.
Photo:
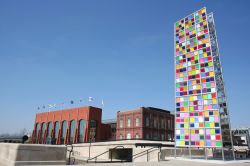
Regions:
[[[37,113],[32,142],[72,144],[108,140],[111,128],[102,124],[101,118],[102,110],[90,106]]]

